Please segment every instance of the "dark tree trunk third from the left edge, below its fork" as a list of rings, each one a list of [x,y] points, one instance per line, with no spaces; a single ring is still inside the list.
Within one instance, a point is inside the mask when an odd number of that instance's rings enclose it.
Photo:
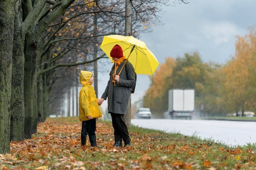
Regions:
[[[32,137],[33,116],[33,93],[36,75],[36,57],[38,52],[38,41],[33,33],[27,34],[24,65],[24,106],[25,106],[25,138]]]

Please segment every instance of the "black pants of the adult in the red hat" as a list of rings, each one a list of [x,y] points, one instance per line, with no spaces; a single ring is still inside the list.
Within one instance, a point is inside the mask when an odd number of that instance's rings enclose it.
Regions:
[[[114,128],[115,141],[124,140],[124,144],[130,143],[128,128],[125,124],[124,115],[117,113],[110,113],[112,117],[112,125]]]

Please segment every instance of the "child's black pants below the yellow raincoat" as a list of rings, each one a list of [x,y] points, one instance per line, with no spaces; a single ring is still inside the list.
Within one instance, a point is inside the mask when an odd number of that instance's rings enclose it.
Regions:
[[[96,118],[82,122],[81,136],[94,136],[96,131]]]

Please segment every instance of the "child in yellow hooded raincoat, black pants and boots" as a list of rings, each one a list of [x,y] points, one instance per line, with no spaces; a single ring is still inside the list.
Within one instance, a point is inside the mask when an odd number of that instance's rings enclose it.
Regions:
[[[99,148],[95,135],[96,118],[102,115],[92,87],[93,80],[92,72],[81,71],[80,83],[83,85],[79,92],[79,120],[82,122],[81,144],[82,146],[86,144],[86,135],[88,135],[91,146]]]

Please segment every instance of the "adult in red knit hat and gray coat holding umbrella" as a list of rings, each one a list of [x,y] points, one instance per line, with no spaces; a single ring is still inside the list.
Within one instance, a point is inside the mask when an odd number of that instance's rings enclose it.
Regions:
[[[118,44],[115,45],[110,56],[114,65],[110,71],[110,78],[105,92],[99,99],[100,104],[108,98],[108,113],[112,117],[115,144],[113,146],[130,146],[130,136],[125,124],[124,115],[130,100],[131,87],[135,85],[135,71],[132,64],[123,55],[123,50]],[[124,69],[123,69],[124,68]]]

